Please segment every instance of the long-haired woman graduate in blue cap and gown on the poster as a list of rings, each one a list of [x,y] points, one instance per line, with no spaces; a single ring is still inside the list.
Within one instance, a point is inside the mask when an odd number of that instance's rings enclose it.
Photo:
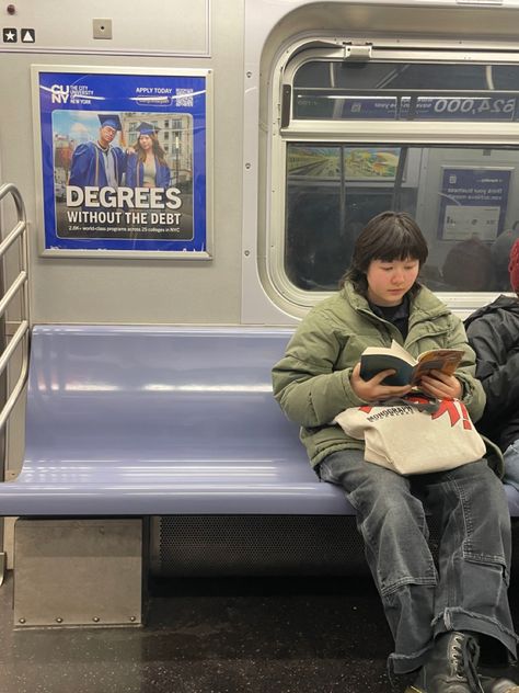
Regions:
[[[157,137],[159,128],[151,123],[140,123],[137,130],[139,135],[134,145],[135,154],[128,156],[126,164],[126,185],[169,188],[171,172]]]

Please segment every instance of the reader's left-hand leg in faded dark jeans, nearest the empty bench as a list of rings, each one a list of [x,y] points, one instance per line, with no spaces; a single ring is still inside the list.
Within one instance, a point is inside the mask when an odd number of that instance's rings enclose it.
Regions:
[[[320,465],[324,481],[344,487],[357,511],[357,525],[395,641],[395,673],[417,669],[432,646],[431,620],[437,584],[422,502],[410,480],[367,463],[360,451],[341,451]]]

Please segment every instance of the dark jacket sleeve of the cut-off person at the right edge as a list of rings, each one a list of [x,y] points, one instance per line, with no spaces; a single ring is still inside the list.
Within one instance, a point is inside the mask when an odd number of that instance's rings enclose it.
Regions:
[[[504,351],[492,316],[482,316],[468,328],[469,341],[477,355],[476,376],[486,394],[485,420],[501,419],[519,406],[519,345],[499,363]]]

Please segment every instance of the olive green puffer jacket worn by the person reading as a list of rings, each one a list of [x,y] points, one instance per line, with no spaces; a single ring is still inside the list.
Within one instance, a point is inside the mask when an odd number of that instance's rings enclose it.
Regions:
[[[301,425],[313,466],[338,450],[364,448],[361,441],[330,422],[347,407],[366,404],[351,389],[353,367],[366,346],[390,346],[392,339],[415,357],[429,349],[463,349],[465,359],[455,374],[462,399],[473,421],[482,416],[485,394],[474,377],[474,352],[463,323],[428,288],[419,288],[411,298],[404,343],[397,328],[376,316],[366,298],[346,284],[310,310],[273,370],[274,396],[287,417]]]

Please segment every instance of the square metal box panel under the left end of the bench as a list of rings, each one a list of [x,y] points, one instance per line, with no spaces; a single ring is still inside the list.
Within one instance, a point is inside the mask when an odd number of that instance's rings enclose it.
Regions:
[[[18,520],[14,625],[142,623],[142,521]]]

